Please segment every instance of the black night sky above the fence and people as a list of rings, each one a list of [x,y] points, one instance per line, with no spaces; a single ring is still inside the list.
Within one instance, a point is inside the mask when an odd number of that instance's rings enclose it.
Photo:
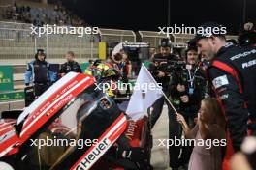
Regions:
[[[74,1],[74,0],[73,0]],[[167,26],[168,0],[76,0],[76,13],[92,26],[155,30]],[[171,0],[171,26],[216,21],[238,33],[243,0]],[[256,22],[256,0],[247,0],[246,19]]]

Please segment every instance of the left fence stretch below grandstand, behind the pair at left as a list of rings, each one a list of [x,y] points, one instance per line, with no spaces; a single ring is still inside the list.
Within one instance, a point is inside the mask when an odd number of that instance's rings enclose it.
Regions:
[[[0,22],[0,64],[25,64],[38,48],[45,49],[48,61],[65,61],[67,51],[74,51],[80,63],[98,57],[97,35],[32,35],[31,24]]]

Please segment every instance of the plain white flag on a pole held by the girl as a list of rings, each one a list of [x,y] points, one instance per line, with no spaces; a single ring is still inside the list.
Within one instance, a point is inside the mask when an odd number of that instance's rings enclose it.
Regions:
[[[156,83],[151,73],[143,64],[137,77],[133,95],[128,103],[126,113],[133,120],[140,119],[146,114],[147,108],[162,96],[162,87]]]

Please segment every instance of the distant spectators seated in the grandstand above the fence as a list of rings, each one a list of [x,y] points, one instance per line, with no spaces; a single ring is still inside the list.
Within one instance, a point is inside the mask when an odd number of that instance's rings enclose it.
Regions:
[[[14,3],[6,7],[3,18],[24,23],[33,23],[36,26],[44,24],[85,26],[86,23],[76,14],[67,10],[60,1],[54,8],[30,7]]]

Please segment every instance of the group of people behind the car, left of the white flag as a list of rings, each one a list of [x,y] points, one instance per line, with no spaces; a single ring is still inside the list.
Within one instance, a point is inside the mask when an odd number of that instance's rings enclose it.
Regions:
[[[50,85],[70,71],[84,72],[85,74],[93,75],[97,80],[104,79],[105,81],[122,80],[123,82],[128,82],[128,78],[131,78],[132,65],[124,51],[113,54],[105,62],[101,60],[89,61],[90,66],[85,71],[81,71],[80,64],[75,61],[73,51],[66,53],[65,58],[67,62],[62,65],[50,64],[46,58],[45,51],[38,49],[35,59],[27,64],[24,78],[25,85],[28,89],[25,91],[29,92],[29,89],[32,88],[33,93],[26,95],[28,99],[26,99],[27,102],[25,105],[29,105],[34,99],[37,99]],[[127,89],[127,93],[130,93],[129,88]]]

